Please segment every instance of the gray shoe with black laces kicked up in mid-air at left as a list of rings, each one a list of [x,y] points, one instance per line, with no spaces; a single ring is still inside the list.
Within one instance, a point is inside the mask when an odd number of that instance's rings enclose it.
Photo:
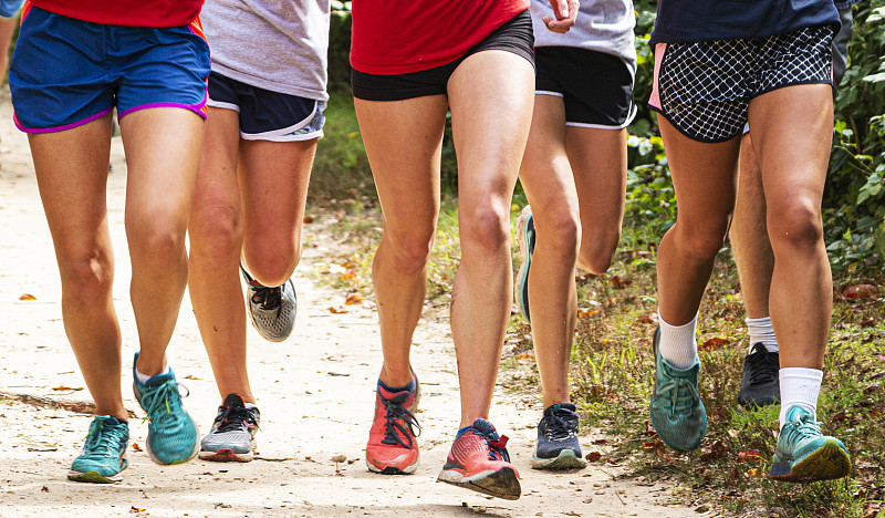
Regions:
[[[246,279],[246,303],[249,318],[256,330],[266,340],[282,342],[292,334],[298,312],[298,297],[292,279],[283,286],[268,288],[256,281],[240,265],[242,278]]]

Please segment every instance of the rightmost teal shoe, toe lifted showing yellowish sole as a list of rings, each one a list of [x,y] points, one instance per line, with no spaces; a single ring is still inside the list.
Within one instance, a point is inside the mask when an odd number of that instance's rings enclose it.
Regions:
[[[821,433],[821,423],[801,406],[787,411],[787,424],[778,435],[772,480],[811,483],[848,476],[851,457],[842,441]]]

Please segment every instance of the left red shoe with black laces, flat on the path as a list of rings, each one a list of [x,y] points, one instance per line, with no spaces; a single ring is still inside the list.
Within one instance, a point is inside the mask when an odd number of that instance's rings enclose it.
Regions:
[[[420,425],[414,412],[418,408],[420,385],[415,374],[412,392],[389,392],[381,386],[375,395],[375,418],[368,431],[366,467],[383,475],[410,475],[418,468]]]

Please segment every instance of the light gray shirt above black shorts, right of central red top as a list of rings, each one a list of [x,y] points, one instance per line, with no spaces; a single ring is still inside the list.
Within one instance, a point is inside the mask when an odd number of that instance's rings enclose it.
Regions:
[[[549,0],[532,0],[534,46],[577,46],[614,54],[636,73],[633,28],[636,14],[632,0],[583,0],[574,27],[565,34],[546,30],[544,17],[552,17]]]

